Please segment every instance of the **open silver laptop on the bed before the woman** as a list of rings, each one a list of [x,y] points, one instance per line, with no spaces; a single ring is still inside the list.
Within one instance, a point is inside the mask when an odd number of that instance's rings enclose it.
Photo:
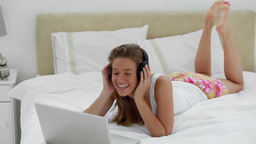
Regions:
[[[137,144],[139,140],[110,134],[107,118],[35,103],[45,142],[48,144]]]

